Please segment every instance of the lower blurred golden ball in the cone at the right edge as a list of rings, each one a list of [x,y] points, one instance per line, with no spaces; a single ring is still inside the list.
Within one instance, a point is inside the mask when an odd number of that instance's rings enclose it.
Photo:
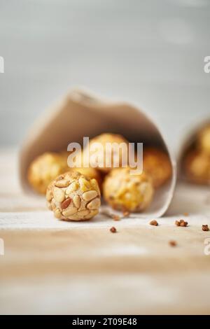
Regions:
[[[192,150],[183,162],[186,177],[195,183],[210,184],[210,155]]]

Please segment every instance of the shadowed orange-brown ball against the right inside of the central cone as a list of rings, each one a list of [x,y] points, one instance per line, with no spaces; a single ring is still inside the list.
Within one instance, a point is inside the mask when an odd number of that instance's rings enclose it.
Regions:
[[[143,169],[151,176],[154,188],[159,188],[172,176],[169,156],[158,148],[143,149]]]

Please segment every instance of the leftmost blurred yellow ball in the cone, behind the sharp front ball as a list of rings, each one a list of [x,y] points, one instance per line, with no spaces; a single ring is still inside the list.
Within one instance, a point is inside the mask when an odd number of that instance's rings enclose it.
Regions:
[[[65,156],[59,153],[43,153],[31,162],[28,170],[28,181],[36,192],[45,194],[52,179],[68,170]]]

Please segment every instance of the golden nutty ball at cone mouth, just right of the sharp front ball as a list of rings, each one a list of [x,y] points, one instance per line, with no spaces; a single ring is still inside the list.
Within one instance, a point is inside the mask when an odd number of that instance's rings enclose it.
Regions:
[[[103,184],[104,199],[113,209],[144,211],[153,200],[153,184],[145,174],[131,175],[130,168],[113,169]]]

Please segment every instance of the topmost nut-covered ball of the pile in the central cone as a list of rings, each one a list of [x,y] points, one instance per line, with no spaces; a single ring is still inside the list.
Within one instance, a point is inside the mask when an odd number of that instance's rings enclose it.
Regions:
[[[99,150],[99,148],[96,148],[94,151],[91,151],[91,147],[96,145],[96,143],[99,143],[103,146],[103,149]],[[126,152],[127,156],[127,148],[120,148],[119,147],[119,153],[118,151],[115,151],[113,148],[111,148],[111,151],[108,153],[106,152],[106,144],[107,143],[115,143],[116,146],[120,146],[120,144],[125,144],[127,145],[127,140],[118,134],[101,134],[97,137],[94,137],[93,139],[90,140],[90,156],[94,155],[97,152],[97,157],[94,162],[94,167],[96,165],[97,169],[99,169],[102,172],[110,172],[113,167],[121,167],[122,165],[122,159],[123,156]],[[87,147],[83,151],[83,157],[87,157]],[[119,165],[114,166],[114,159],[118,159]],[[110,165],[107,165],[107,161],[110,162]],[[92,164],[90,163],[90,167],[92,167]]]

